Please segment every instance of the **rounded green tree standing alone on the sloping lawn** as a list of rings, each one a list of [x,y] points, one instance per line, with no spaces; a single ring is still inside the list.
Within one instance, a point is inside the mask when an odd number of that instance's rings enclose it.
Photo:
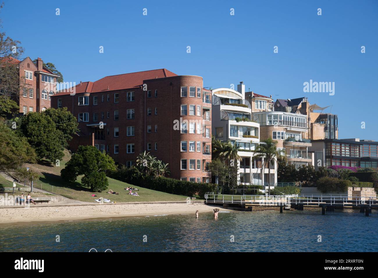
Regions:
[[[74,182],[77,176],[84,175],[81,183],[90,187],[92,192],[101,192],[109,186],[106,174],[114,171],[114,160],[108,154],[93,146],[79,146],[60,174],[70,182]]]

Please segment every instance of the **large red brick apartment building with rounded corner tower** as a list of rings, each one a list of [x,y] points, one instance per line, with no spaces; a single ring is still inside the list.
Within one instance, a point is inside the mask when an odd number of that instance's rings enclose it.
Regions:
[[[148,70],[80,82],[72,91],[51,98],[51,107],[67,107],[79,122],[72,151],[96,146],[127,166],[147,151],[169,163],[172,178],[210,181],[211,91],[202,77]]]

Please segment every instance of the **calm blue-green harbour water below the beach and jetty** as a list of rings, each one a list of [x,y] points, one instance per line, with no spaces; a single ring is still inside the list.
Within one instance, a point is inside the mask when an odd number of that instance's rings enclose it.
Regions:
[[[376,252],[377,231],[376,215],[232,212],[214,220],[202,213],[0,226],[0,251]]]

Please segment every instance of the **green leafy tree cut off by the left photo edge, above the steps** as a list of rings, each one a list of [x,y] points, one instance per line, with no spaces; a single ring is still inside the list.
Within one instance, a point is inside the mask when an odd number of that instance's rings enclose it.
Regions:
[[[0,122],[0,171],[12,174],[25,162],[36,162],[36,153],[25,137]]]

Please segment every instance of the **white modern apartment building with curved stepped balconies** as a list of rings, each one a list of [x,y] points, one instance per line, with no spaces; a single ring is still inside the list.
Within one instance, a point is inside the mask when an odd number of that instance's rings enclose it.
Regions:
[[[228,88],[212,90],[212,135],[217,140],[230,140],[232,144],[240,146],[240,184],[268,185],[269,169],[265,168],[262,172],[263,161],[254,158],[254,150],[260,144],[260,124],[246,100],[243,82],[237,86],[237,91]],[[270,167],[270,183],[274,186],[277,182],[277,165],[275,163]]]

